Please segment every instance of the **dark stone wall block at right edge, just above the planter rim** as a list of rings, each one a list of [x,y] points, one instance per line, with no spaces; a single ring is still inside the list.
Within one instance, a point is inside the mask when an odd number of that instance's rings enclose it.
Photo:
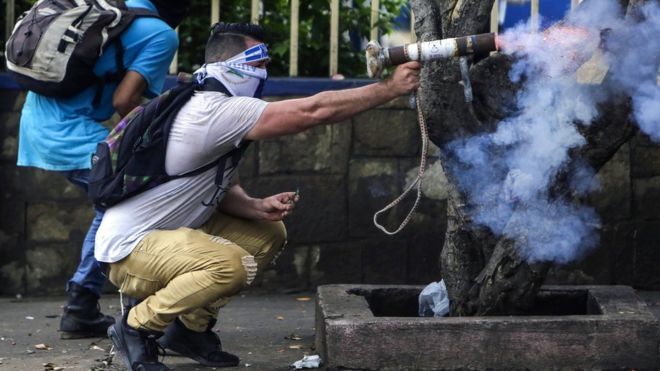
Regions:
[[[660,222],[639,223],[635,239],[635,288],[660,290]]]

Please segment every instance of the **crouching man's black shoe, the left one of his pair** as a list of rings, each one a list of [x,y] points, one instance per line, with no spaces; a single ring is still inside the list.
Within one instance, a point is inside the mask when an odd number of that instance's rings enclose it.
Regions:
[[[133,371],[166,371],[167,366],[158,362],[158,343],[162,333],[136,330],[126,323],[126,315],[120,323],[108,329],[108,337],[121,356],[124,365]]]

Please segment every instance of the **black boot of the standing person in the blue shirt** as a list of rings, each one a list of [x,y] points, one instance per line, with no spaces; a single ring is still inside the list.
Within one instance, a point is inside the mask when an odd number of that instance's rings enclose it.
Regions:
[[[60,338],[105,337],[115,319],[101,313],[99,298],[76,283],[69,285],[69,302],[60,320]]]

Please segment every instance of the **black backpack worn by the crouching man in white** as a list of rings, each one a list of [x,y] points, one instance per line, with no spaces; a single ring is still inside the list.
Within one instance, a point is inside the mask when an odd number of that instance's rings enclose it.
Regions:
[[[229,161],[236,168],[249,141],[217,160],[182,175],[170,176],[165,171],[165,154],[172,123],[181,107],[197,90],[219,91],[231,96],[215,79],[204,85],[180,83],[175,88],[135,108],[124,117],[108,137],[96,147],[89,177],[89,197],[99,208],[108,208],[129,197],[161,185],[171,179],[203,173],[217,166],[216,192],[203,202],[213,205],[221,191]]]

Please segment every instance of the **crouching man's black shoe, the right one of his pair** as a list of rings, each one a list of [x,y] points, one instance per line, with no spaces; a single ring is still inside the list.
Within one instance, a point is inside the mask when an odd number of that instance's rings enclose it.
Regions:
[[[183,356],[208,367],[234,367],[239,358],[222,351],[222,343],[218,334],[211,329],[215,321],[204,332],[188,330],[177,318],[165,329],[165,334],[158,343],[166,349],[173,350]]]

